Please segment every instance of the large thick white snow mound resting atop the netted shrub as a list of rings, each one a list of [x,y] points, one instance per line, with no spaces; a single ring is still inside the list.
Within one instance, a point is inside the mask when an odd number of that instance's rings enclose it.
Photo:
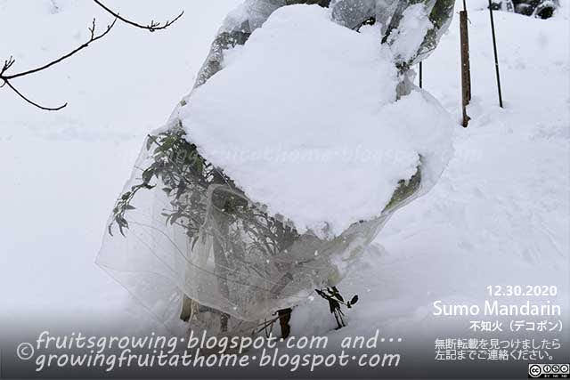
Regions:
[[[428,190],[454,123],[419,89],[396,101],[379,28],[357,33],[318,6],[273,12],[180,110],[189,140],[252,200],[297,229],[338,235],[378,216],[398,182]]]

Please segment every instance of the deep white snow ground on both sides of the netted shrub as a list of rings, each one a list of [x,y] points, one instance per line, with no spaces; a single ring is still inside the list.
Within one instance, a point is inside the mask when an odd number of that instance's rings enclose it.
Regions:
[[[95,6],[0,0],[0,57],[26,69],[75,47]],[[183,20],[163,33],[117,25],[80,56],[14,81],[47,113],[0,89],[0,308],[2,326],[53,319],[144,326],[145,311],[94,265],[104,224],[143,136],[187,93],[225,12],[238,0],[108,2],[136,20]],[[134,4],[136,3],[136,6]],[[425,198],[399,211],[341,290],[361,301],[331,336],[441,327],[436,299],[481,300],[495,284],[556,284],[567,303],[570,215],[570,63],[566,6],[555,20],[495,13],[506,108],[497,105],[488,12],[471,12],[473,118],[456,155]],[[424,88],[458,121],[459,25],[425,62]],[[10,36],[6,38],[4,36]],[[294,333],[326,333],[322,300],[297,309]],[[322,323],[311,312],[321,313]],[[567,311],[567,308],[566,308]],[[136,323],[132,323],[132,319]],[[567,314],[566,314],[567,320]],[[56,322],[53,322],[56,323]]]

